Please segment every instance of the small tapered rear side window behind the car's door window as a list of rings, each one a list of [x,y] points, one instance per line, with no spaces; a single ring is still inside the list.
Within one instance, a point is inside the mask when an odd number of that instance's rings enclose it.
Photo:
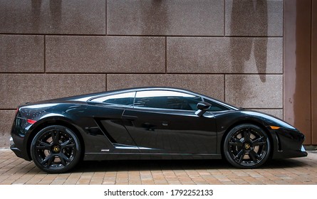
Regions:
[[[135,92],[126,92],[117,95],[108,95],[105,97],[99,97],[92,99],[92,102],[103,102],[107,104],[120,104],[120,105],[132,105]]]

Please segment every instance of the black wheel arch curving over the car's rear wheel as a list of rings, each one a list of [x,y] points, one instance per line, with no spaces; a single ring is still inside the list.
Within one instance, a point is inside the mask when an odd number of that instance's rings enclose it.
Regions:
[[[85,154],[85,141],[83,139],[82,134],[80,134],[80,130],[78,129],[78,127],[76,127],[76,125],[60,117],[46,118],[45,121],[41,122],[36,127],[34,127],[34,129],[32,129],[31,133],[28,135],[28,139],[26,143],[26,149],[27,149],[28,157],[30,158],[30,160],[32,159],[31,158],[31,143],[34,137],[39,131],[41,131],[41,129],[48,126],[53,126],[53,125],[61,125],[63,127],[67,127],[68,129],[71,129],[74,132],[74,134],[76,134],[80,142],[80,148],[81,148],[80,160],[82,160]]]

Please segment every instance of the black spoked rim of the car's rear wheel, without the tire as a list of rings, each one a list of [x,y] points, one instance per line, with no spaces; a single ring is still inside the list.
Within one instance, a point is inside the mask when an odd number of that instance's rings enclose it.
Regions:
[[[76,142],[68,129],[51,129],[36,140],[35,155],[45,168],[65,168],[76,156]]]

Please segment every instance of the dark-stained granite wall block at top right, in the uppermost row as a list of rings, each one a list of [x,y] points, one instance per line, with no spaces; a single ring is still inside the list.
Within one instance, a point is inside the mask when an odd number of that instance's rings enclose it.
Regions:
[[[226,36],[283,36],[283,1],[226,0]]]

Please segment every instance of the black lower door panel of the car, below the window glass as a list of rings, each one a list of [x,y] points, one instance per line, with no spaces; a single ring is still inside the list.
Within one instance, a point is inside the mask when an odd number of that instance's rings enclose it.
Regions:
[[[142,153],[216,154],[217,132],[210,113],[197,117],[194,111],[130,108],[123,119]]]

